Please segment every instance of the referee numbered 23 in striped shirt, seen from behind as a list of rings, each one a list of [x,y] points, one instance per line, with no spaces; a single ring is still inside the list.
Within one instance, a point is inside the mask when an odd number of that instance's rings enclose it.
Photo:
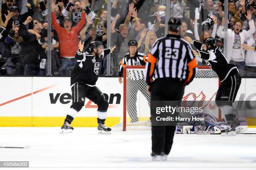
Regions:
[[[179,36],[180,28],[180,19],[170,18],[169,34],[156,40],[149,53],[145,78],[151,107],[152,101],[181,101],[185,86],[194,79],[197,62],[190,44]],[[151,108],[151,121],[155,117],[156,111]],[[154,126],[152,122],[152,160],[167,160],[175,128]]]

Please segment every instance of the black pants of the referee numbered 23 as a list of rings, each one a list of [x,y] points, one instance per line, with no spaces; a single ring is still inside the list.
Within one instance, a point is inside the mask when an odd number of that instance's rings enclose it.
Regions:
[[[184,89],[184,81],[179,79],[156,79],[151,85],[151,101],[181,101]],[[152,114],[156,113],[151,110],[151,117]],[[176,126],[152,125],[152,152],[154,155],[161,155],[162,152],[165,155],[169,154],[172,149],[175,129]]]

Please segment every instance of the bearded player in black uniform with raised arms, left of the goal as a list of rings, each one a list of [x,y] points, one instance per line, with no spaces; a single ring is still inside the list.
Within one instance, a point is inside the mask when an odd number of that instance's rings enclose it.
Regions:
[[[100,41],[92,41],[88,52],[83,51],[84,42],[79,42],[79,49],[75,55],[77,64],[71,74],[72,105],[61,127],[60,133],[70,133],[73,127],[71,122],[84,106],[85,98],[97,104],[99,134],[111,134],[111,129],[105,126],[108,110],[108,101],[104,94],[96,87],[102,57],[110,53],[110,48],[103,49]]]

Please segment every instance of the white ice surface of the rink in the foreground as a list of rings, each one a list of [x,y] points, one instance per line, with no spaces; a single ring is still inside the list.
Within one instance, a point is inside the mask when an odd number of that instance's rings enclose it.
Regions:
[[[256,170],[256,134],[176,134],[166,162],[152,162],[151,132],[97,134],[97,128],[0,127],[0,161],[29,161],[6,170]],[[256,129],[249,129],[256,131]]]

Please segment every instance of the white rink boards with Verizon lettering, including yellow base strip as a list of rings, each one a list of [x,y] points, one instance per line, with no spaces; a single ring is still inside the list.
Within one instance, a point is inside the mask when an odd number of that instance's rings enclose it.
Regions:
[[[196,81],[210,83],[204,79]],[[58,127],[72,104],[68,77],[0,77],[0,82],[4,82],[0,88],[1,127]],[[106,124],[118,124],[123,114],[123,84],[118,83],[118,78],[102,77],[97,81],[97,87],[110,103]],[[185,91],[184,96],[191,92],[200,93],[192,88]],[[212,96],[213,92],[212,89],[205,90],[204,94]],[[236,100],[250,100],[251,107],[255,107],[256,79],[242,79]],[[95,127],[96,108],[97,105],[86,99],[72,126]],[[255,113],[255,110],[246,110],[246,115],[251,118],[256,118]],[[255,122],[254,119],[250,121]]]

